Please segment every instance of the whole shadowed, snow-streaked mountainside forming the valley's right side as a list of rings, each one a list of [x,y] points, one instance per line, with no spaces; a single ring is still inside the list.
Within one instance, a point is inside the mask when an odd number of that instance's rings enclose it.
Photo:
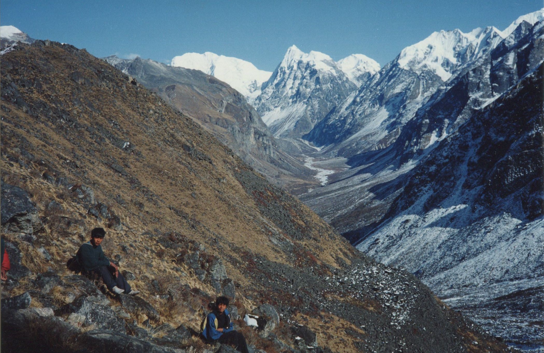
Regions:
[[[471,61],[453,67],[446,82],[432,72],[436,68],[416,61],[412,69],[401,70],[397,64],[402,55],[386,65],[371,79],[378,83],[379,75],[392,75],[382,81],[393,83],[384,86],[389,94],[381,96],[388,100],[384,107],[379,95],[374,105],[363,99],[344,102],[345,114],[330,120],[330,128],[344,140],[322,153],[347,156],[336,163],[351,168],[301,199],[348,239],[362,240],[362,251],[416,272],[496,335],[538,350],[542,318],[540,306],[533,305],[541,295],[543,259],[534,249],[541,240],[536,233],[542,228],[544,196],[541,73],[536,69],[544,59],[544,32],[542,22],[518,23],[500,42],[495,34],[487,36],[493,40],[484,46],[480,42],[481,54],[471,51]],[[422,67],[426,69],[417,74]],[[421,77],[432,75],[440,84],[422,99]],[[375,91],[361,88],[359,93],[363,98]],[[531,157],[517,156],[521,151]],[[523,166],[516,160],[523,160]],[[508,250],[510,246],[517,250]],[[499,265],[518,251],[527,258],[515,261],[516,270]],[[527,305],[512,307],[512,298],[523,298]]]

